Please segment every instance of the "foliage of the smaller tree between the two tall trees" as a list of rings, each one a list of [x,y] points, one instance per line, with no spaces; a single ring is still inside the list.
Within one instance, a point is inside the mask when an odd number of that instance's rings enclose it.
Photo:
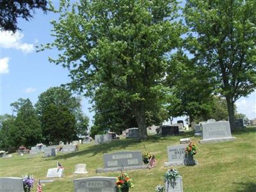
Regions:
[[[167,84],[172,88],[168,111],[170,116],[188,115],[190,122],[209,113],[212,106],[214,81],[207,68],[196,66],[181,51],[173,56]]]

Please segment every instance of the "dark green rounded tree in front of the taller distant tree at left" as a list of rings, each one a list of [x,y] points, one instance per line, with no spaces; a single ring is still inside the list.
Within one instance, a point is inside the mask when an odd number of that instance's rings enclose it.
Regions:
[[[76,135],[75,116],[66,106],[49,104],[41,116],[42,131],[46,142],[72,141]]]

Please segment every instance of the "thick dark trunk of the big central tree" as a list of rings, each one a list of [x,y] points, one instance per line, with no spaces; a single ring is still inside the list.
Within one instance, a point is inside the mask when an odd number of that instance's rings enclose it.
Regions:
[[[136,122],[139,128],[139,140],[145,140],[147,138],[147,127],[145,118],[145,106],[143,102],[133,105],[136,116]]]

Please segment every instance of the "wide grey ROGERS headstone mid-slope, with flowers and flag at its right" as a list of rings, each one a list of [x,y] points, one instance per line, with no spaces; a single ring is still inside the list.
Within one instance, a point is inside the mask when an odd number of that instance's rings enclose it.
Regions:
[[[116,172],[124,166],[125,170],[148,168],[142,161],[140,151],[121,151],[112,154],[103,154],[104,168],[97,168],[96,173]]]

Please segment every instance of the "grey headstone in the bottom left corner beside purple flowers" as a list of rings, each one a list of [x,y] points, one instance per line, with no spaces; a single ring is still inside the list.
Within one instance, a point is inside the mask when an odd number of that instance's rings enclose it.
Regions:
[[[22,178],[0,177],[1,192],[24,192]]]

